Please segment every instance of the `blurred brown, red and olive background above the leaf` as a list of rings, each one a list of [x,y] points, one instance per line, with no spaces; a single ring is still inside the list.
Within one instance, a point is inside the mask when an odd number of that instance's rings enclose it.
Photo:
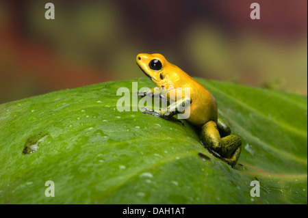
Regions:
[[[0,0],[0,103],[145,77],[138,53],[194,77],[307,95],[307,0]]]

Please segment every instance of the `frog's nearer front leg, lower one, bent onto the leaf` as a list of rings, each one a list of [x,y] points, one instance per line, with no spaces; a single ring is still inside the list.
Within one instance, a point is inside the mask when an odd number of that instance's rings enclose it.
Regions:
[[[181,113],[181,111],[179,111],[179,108],[186,107],[190,103],[191,103],[190,98],[181,98],[181,100],[177,100],[175,103],[172,103],[165,110],[162,110],[162,109],[151,110],[151,109],[144,107],[144,109],[146,109],[146,111],[144,111],[143,113],[149,113],[151,115],[157,115],[160,118],[164,118],[165,120],[175,120],[175,121],[181,123],[182,125],[184,125],[184,123],[181,122],[181,120],[178,120],[177,118],[175,118],[173,116],[178,114],[178,113]]]

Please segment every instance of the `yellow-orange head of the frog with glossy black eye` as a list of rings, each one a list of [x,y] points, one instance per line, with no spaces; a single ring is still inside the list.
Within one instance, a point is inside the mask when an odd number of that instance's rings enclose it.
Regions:
[[[136,62],[144,74],[156,83],[157,86],[169,83],[170,78],[173,77],[172,73],[176,72],[172,69],[177,68],[173,64],[167,62],[163,55],[157,53],[141,53],[137,55]]]

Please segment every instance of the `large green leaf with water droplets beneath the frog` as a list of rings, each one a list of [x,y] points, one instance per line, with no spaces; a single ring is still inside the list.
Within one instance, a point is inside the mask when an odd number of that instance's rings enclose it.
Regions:
[[[116,109],[149,79],[112,81],[0,105],[0,203],[307,204],[307,97],[198,80],[242,139],[233,169],[188,122]]]

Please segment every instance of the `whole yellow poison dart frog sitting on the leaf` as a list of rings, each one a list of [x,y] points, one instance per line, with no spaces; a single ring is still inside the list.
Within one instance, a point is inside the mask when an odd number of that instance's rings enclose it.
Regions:
[[[163,55],[140,53],[136,62],[144,74],[157,85],[146,92],[138,92],[138,96],[159,95],[171,102],[172,90],[177,92],[178,88],[190,88],[190,98],[184,95],[179,100],[173,99],[174,103],[170,103],[166,109],[153,111],[145,107],[146,111],[143,113],[157,115],[166,120],[177,120],[173,115],[181,113],[178,108],[190,103],[190,116],[187,120],[201,129],[201,143],[212,154],[234,167],[240,157],[242,141],[237,135],[230,135],[229,126],[218,118],[216,99],[209,90],[183,70],[170,64]]]

